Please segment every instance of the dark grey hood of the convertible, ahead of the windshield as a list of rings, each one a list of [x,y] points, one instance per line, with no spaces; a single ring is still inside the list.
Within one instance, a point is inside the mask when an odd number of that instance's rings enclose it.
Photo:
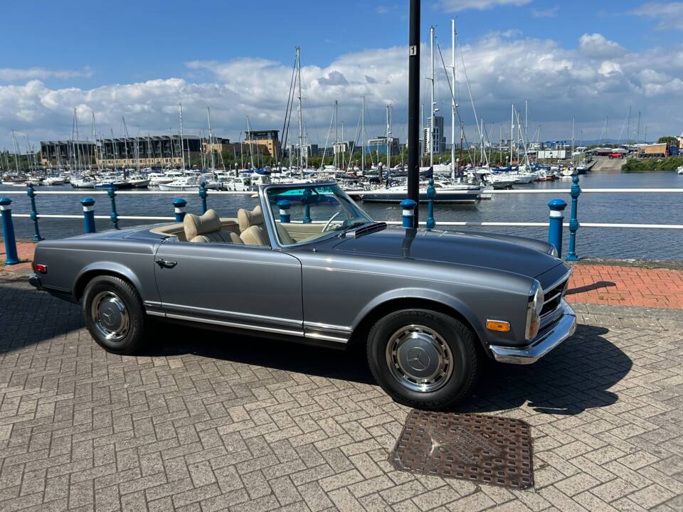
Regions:
[[[531,277],[561,265],[561,260],[548,254],[549,249],[547,242],[531,238],[398,227],[334,245],[340,252],[488,267]]]

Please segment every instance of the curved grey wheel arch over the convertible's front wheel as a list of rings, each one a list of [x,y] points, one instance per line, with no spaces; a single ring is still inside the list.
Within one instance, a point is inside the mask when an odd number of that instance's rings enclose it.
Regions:
[[[368,304],[354,322],[349,345],[364,343],[376,321],[401,309],[429,309],[452,316],[465,324],[477,337],[485,353],[489,353],[480,322],[465,304],[448,294],[423,289],[402,289],[396,293],[378,297]]]

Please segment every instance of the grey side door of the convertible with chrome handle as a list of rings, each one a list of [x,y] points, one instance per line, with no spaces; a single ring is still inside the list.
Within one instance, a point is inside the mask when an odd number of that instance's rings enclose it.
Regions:
[[[159,245],[154,272],[169,318],[302,336],[301,265],[270,247]]]

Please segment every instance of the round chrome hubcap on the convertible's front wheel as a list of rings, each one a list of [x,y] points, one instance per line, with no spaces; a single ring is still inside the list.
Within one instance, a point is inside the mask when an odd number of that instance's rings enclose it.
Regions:
[[[391,335],[386,363],[401,385],[421,393],[438,390],[453,373],[448,343],[433,329],[420,325],[402,327]]]

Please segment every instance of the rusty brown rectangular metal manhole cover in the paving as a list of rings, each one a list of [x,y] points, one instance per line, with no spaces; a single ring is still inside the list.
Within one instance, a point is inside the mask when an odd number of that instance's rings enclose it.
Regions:
[[[534,486],[531,457],[526,422],[413,409],[389,462],[402,471],[527,489]]]

